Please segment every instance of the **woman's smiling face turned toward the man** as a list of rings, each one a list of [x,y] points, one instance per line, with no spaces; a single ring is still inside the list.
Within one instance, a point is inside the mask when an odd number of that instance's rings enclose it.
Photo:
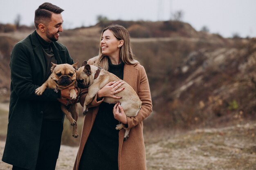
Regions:
[[[104,31],[100,42],[102,50],[101,53],[103,55],[108,55],[109,57],[119,57],[120,41],[121,40],[117,40],[115,35],[110,30]]]

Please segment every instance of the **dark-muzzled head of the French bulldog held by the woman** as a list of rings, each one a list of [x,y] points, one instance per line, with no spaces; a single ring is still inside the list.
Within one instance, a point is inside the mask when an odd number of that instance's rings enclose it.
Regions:
[[[84,61],[82,66],[78,69],[76,73],[76,82],[79,88],[88,88],[92,82],[92,70],[87,61]]]

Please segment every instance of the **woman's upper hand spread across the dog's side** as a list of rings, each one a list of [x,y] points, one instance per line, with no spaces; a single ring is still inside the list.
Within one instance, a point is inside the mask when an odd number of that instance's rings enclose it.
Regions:
[[[122,97],[115,96],[115,94],[124,90],[124,87],[118,89],[123,84],[124,82],[122,80],[118,82],[109,82],[98,91],[97,99],[100,99],[102,97],[112,97],[114,99],[121,99]]]

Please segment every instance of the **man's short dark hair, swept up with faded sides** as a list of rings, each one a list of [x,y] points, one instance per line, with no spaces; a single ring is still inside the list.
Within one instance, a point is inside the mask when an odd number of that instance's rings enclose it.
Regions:
[[[35,11],[35,26],[36,29],[38,29],[38,24],[43,23],[46,24],[50,22],[52,18],[52,13],[62,13],[64,9],[61,9],[60,7],[57,7],[54,4],[51,4],[49,2],[45,2],[41,4],[38,9]]]

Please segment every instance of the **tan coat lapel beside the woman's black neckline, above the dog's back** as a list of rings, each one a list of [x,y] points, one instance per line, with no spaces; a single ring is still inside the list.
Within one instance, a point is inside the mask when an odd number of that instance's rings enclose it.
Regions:
[[[135,68],[136,64],[124,64],[124,81],[127,82],[136,91],[136,82],[138,77],[138,69]]]

